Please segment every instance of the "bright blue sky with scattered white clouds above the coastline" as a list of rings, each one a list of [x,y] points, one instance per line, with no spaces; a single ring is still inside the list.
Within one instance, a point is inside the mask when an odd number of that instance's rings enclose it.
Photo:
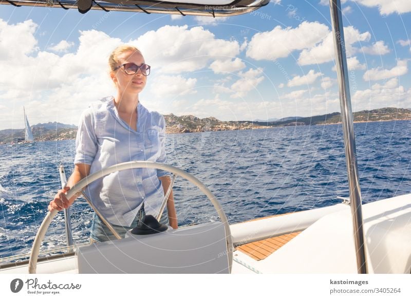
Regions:
[[[352,110],[411,108],[411,1],[343,0]],[[0,5],[0,129],[75,124],[115,95],[107,59],[137,46],[161,114],[267,120],[340,111],[327,0],[197,17]]]

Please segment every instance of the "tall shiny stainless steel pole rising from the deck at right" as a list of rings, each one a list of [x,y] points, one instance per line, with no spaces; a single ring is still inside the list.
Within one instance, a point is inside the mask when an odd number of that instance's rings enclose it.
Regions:
[[[351,97],[348,85],[347,57],[345,54],[344,27],[340,0],[330,0],[331,24],[334,39],[335,64],[338,73],[340,89],[341,121],[343,124],[345,159],[348,170],[350,190],[350,205],[354,244],[356,246],[357,269],[359,274],[367,273],[367,258],[365,254],[364,226],[361,206],[361,190],[358,177],[356,139],[351,109]]]

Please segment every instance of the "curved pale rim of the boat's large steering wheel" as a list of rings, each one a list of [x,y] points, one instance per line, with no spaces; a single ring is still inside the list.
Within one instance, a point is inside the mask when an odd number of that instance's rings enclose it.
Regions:
[[[211,191],[203,183],[201,183],[196,177],[192,176],[189,173],[186,173],[185,171],[181,169],[178,169],[177,167],[166,165],[166,164],[161,164],[161,163],[156,163],[156,162],[150,162],[150,161],[131,161],[131,162],[119,163],[119,164],[107,167],[106,169],[103,169],[101,171],[98,171],[94,174],[91,174],[83,178],[77,184],[73,185],[72,188],[70,188],[70,190],[67,192],[66,197],[67,198],[72,197],[74,194],[81,191],[86,185],[88,185],[89,183],[105,175],[108,175],[116,171],[122,171],[122,170],[127,170],[127,169],[134,169],[134,168],[160,169],[160,170],[168,171],[175,175],[179,175],[185,178],[186,180],[190,181],[194,185],[196,185],[200,189],[200,191],[204,193],[210,199],[211,203],[214,205],[214,208],[216,209],[218,213],[218,216],[220,217],[221,222],[223,223],[225,227],[228,259],[229,259],[229,272],[231,273],[231,268],[233,265],[233,241],[231,239],[231,231],[230,231],[230,226],[228,224],[227,216],[222,210],[221,204],[218,202],[215,196],[211,193]],[[29,273],[30,274],[36,273],[37,259],[39,257],[40,246],[42,244],[46,231],[48,227],[50,226],[51,220],[54,218],[54,216],[58,212],[59,211],[57,210],[53,210],[52,212],[47,213],[46,217],[44,218],[34,238],[33,247],[31,248],[30,260],[29,260]]]

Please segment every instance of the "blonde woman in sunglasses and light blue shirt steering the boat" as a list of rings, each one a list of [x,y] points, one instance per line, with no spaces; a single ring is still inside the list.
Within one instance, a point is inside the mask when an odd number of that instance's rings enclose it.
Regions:
[[[139,102],[150,66],[141,52],[131,46],[116,48],[109,57],[110,78],[117,88],[116,97],[103,98],[84,111],[76,138],[74,171],[67,186],[59,190],[48,210],[61,211],[76,199],[65,193],[90,173],[121,162],[147,160],[164,163],[165,121]],[[169,188],[166,172],[134,169],[111,173],[90,183],[85,194],[115,230],[125,232],[138,225],[145,214],[157,216]],[[161,188],[162,186],[162,188]],[[160,220],[177,228],[173,194],[167,199],[167,211]],[[113,233],[96,214],[91,223],[91,241],[114,239]]]

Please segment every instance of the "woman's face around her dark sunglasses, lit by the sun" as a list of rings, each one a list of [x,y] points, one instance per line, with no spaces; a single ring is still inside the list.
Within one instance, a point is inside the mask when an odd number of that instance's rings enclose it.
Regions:
[[[129,62],[139,66],[145,63],[144,57],[139,52],[128,51],[119,55],[118,66]],[[130,75],[124,71],[124,67],[120,67],[111,72],[110,77],[122,94],[139,94],[147,82],[147,77],[143,76],[140,69],[135,74]]]

